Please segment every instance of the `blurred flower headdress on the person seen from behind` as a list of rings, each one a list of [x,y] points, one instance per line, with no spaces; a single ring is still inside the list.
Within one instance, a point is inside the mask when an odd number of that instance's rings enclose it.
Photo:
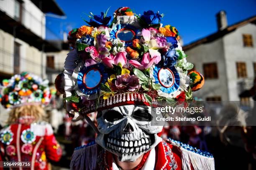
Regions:
[[[10,80],[3,80],[1,103],[5,108],[31,104],[47,105],[50,99],[48,80],[43,81],[36,75],[22,72],[13,75]]]

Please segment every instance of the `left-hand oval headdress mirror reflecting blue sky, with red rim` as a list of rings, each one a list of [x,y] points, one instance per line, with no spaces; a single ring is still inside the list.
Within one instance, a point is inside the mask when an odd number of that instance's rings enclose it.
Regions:
[[[83,83],[86,88],[92,89],[100,84],[101,79],[102,75],[100,73],[100,70],[92,68],[84,74]]]

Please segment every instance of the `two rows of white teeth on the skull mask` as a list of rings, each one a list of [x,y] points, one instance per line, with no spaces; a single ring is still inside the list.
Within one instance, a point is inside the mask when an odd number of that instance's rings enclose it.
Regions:
[[[151,145],[149,138],[142,138],[135,141],[119,141],[118,139],[108,138],[107,148],[119,153],[137,154],[148,150]]]

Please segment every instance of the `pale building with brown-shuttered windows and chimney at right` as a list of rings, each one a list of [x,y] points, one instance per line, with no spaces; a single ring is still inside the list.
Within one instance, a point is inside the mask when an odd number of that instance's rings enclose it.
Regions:
[[[183,47],[188,61],[205,76],[195,92],[203,100],[249,101],[241,93],[256,77],[256,16],[228,26],[225,11],[216,15],[218,31]]]

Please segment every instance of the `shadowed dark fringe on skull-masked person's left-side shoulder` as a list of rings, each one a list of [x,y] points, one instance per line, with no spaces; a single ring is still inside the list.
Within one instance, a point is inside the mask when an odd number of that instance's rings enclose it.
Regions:
[[[97,144],[93,142],[76,148],[72,155],[71,170],[96,170]]]

